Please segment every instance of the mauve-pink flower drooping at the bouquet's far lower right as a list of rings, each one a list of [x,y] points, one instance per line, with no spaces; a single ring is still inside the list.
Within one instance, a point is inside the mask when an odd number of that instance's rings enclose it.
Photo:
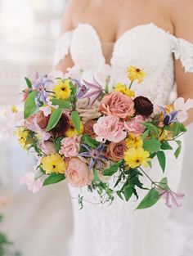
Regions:
[[[184,194],[182,193],[176,193],[171,190],[163,190],[159,192],[159,195],[165,200],[165,204],[168,206],[168,208],[179,207],[182,206],[178,202],[178,200],[182,200],[184,197]]]

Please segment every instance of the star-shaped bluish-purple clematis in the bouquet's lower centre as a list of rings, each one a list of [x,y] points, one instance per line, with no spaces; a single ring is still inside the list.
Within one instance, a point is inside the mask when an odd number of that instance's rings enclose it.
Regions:
[[[87,145],[82,144],[82,146],[87,149],[87,152],[79,153],[80,156],[90,158],[89,169],[91,170],[95,164],[98,168],[102,168],[103,162],[106,160],[105,155],[103,155],[104,145],[100,144],[96,149],[89,148]]]

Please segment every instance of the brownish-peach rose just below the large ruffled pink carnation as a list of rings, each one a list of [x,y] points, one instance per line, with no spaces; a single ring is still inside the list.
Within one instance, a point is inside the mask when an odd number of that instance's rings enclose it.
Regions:
[[[112,161],[119,162],[123,159],[125,150],[127,150],[125,141],[120,141],[119,143],[110,142],[106,148],[106,154]]]

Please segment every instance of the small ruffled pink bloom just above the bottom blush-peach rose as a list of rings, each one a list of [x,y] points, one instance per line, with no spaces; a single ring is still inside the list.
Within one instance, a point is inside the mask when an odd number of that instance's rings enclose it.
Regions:
[[[80,137],[65,137],[61,141],[61,150],[59,153],[65,157],[73,157],[79,154]]]

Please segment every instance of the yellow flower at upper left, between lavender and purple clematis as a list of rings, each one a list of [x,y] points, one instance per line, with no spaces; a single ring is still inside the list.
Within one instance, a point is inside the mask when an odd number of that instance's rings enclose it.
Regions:
[[[56,99],[66,100],[70,97],[70,79],[59,80],[58,84],[53,88]]]

